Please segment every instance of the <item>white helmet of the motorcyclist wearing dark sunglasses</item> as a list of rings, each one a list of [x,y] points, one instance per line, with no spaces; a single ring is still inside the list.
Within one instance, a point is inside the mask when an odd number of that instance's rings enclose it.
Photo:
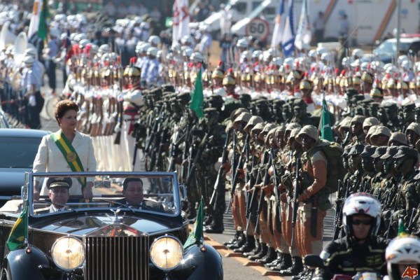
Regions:
[[[370,227],[369,236],[375,237],[381,225],[381,204],[379,201],[367,193],[354,193],[347,197],[343,207],[343,225],[347,237],[353,237],[353,227],[351,216],[365,214],[371,216],[374,221]]]

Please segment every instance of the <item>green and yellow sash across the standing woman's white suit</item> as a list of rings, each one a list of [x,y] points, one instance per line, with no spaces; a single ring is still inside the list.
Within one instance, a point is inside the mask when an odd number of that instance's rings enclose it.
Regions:
[[[71,146],[69,139],[66,139],[64,134],[62,134],[62,131],[59,130],[58,132],[52,133],[51,138],[52,140],[54,140],[54,143],[59,148],[59,151],[62,152],[64,158],[69,163],[71,171],[84,172],[85,169],[83,169],[82,162],[80,162],[80,158],[78,157],[76,150],[74,150],[73,146]],[[78,181],[80,182],[80,184],[82,184],[83,190],[83,188],[85,188],[86,186],[86,178],[79,177]]]

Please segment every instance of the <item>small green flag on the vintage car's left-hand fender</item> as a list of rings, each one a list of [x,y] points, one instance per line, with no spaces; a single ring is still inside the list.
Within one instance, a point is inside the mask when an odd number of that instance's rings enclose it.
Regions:
[[[10,251],[14,251],[25,244],[28,238],[28,205],[24,200],[24,208],[15,225],[13,225],[10,235],[7,239],[7,246]]]

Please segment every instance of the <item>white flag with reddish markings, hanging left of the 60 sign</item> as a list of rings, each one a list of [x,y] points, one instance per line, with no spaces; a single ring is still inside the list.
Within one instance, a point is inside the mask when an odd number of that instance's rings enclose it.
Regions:
[[[188,0],[175,0],[174,23],[172,26],[172,45],[186,35],[190,35],[190,9]]]

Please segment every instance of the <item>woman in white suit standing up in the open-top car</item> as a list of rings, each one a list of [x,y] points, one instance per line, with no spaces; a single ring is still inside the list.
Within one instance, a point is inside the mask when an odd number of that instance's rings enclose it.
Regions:
[[[57,104],[55,119],[59,125],[59,131],[43,137],[32,172],[96,171],[97,162],[94,158],[92,139],[76,130],[78,110],[78,105],[70,100],[63,100]],[[85,181],[72,178],[72,181],[70,195],[83,195],[85,199],[92,198],[94,178],[86,178]],[[39,190],[39,182],[36,182],[34,188],[36,200],[40,194],[48,195],[46,180],[41,190]]]

